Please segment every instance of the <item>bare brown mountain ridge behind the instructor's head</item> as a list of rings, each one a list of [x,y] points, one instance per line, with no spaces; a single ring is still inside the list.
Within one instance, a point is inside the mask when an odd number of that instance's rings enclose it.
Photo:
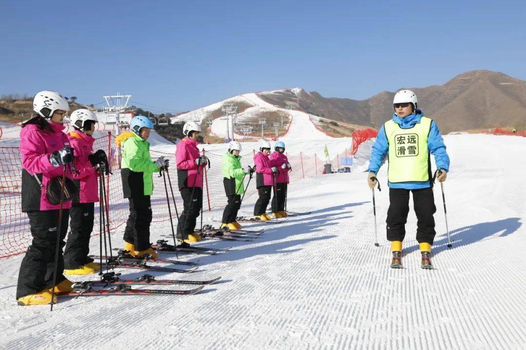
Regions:
[[[443,133],[506,126],[526,129],[526,81],[503,73],[475,70],[443,85],[403,88],[417,93],[419,108],[437,121]],[[383,91],[367,100],[325,98],[300,89],[260,92],[258,96],[278,107],[297,102],[308,113],[378,129],[393,113],[395,92]]]

